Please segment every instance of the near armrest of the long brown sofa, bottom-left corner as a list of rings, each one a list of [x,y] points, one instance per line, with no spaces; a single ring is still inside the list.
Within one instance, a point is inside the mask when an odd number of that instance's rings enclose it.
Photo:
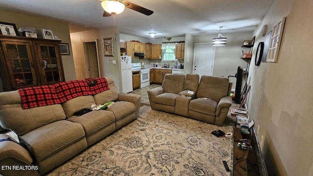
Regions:
[[[10,136],[0,134],[0,139],[8,137]],[[31,166],[32,163],[33,159],[31,155],[21,145],[13,141],[0,142],[0,165],[6,166],[7,168],[11,167],[11,169],[6,169],[5,167],[4,169],[3,167],[0,169],[0,174],[3,176],[39,176],[40,174],[37,171],[38,166],[35,165],[32,166],[33,168],[31,170],[13,169],[13,166],[22,168],[22,166]]]

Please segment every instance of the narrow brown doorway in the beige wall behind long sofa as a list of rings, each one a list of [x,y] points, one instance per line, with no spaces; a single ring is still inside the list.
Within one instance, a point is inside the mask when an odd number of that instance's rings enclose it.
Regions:
[[[100,76],[99,60],[96,42],[84,42],[86,69],[88,78]]]

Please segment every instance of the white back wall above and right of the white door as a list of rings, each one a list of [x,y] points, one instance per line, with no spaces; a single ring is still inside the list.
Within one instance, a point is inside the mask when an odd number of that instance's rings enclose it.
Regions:
[[[249,48],[241,47],[243,41],[251,40],[252,32],[223,33],[227,38],[225,46],[215,46],[215,58],[213,66],[213,76],[235,76],[238,66],[247,68],[249,60],[241,59],[241,52],[248,52]],[[212,39],[217,35],[194,36],[194,43],[212,43]],[[252,57],[253,59],[253,57]],[[236,78],[229,77],[233,83],[233,89],[236,86]]]

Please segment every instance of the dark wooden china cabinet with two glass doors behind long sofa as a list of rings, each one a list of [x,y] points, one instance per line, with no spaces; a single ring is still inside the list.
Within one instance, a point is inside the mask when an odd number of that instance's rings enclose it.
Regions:
[[[0,75],[4,91],[63,82],[60,42],[0,36]]]

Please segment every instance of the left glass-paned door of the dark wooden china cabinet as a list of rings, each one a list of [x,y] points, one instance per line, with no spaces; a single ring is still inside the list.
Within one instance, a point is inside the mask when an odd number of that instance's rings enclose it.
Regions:
[[[30,44],[24,42],[2,42],[12,87],[36,86],[36,74]]]

